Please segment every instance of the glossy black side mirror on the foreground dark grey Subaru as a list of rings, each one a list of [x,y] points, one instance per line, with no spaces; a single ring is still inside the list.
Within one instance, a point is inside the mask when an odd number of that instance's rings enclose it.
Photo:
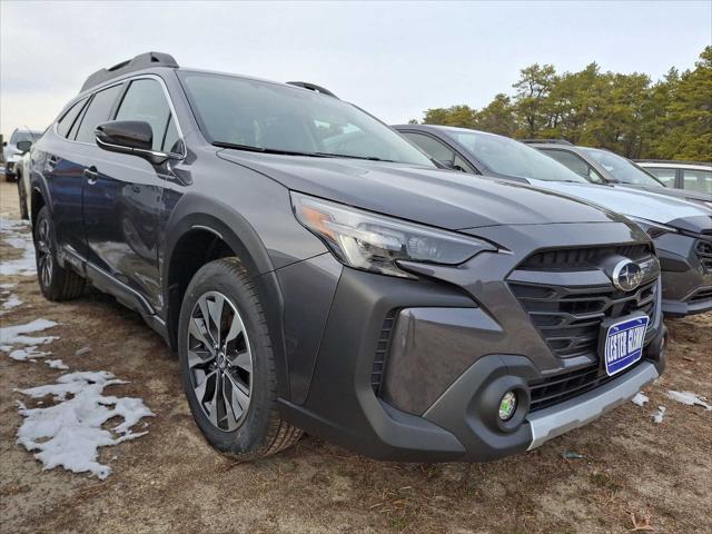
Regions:
[[[97,126],[97,145],[109,152],[130,154],[154,165],[164,164],[170,156],[154,150],[154,130],[142,120],[111,120]]]

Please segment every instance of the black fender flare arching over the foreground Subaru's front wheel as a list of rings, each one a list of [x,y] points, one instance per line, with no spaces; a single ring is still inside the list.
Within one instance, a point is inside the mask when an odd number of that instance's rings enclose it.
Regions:
[[[200,194],[187,194],[174,208],[164,227],[165,245],[160,258],[161,289],[164,303],[170,303],[168,269],[180,239],[192,230],[207,230],[222,239],[240,258],[250,274],[267,320],[267,328],[273,340],[279,396],[289,398],[289,374],[286,360],[286,348],[283,328],[284,298],[279,281],[267,248],[253,226],[228,205],[216,202]],[[166,306],[167,325],[177,324],[171,310]],[[169,332],[169,337],[171,333]]]

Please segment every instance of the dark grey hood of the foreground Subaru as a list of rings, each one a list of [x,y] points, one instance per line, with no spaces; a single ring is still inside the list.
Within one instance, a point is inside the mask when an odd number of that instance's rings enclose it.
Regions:
[[[556,191],[449,170],[231,149],[218,151],[218,157],[264,174],[291,190],[447,229],[625,222],[614,212]]]

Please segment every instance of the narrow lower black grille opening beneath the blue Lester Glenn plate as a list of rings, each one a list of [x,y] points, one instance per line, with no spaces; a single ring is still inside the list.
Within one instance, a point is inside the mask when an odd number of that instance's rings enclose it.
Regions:
[[[530,395],[532,397],[530,412],[547,408],[602,386],[633,369],[641,362],[642,359],[614,376],[602,374],[600,366],[594,364],[571,373],[533,382],[530,384]]]

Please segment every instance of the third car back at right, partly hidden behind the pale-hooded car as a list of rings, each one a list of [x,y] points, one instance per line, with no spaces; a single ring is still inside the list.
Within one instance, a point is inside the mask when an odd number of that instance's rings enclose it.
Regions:
[[[704,204],[712,208],[712,195],[665,187],[665,184],[630,159],[610,150],[577,147],[567,141],[542,142],[538,139],[523,139],[522,142],[541,150],[593,184],[610,184],[615,187],[653,191]]]

